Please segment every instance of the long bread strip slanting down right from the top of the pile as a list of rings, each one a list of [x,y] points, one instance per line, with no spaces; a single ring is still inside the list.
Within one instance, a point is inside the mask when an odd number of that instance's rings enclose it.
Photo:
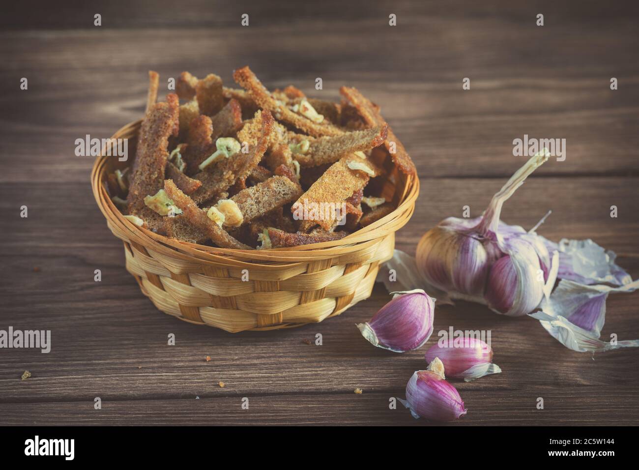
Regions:
[[[314,123],[277,102],[248,66],[235,70],[233,78],[242,88],[249,91],[259,107],[271,111],[278,120],[294,125],[311,136],[339,136],[343,133],[343,130],[328,123],[328,120],[320,124]]]

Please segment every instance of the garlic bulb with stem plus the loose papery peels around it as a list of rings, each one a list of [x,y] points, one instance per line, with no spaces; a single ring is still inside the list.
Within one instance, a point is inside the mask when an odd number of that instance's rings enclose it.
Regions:
[[[550,212],[528,231],[499,220],[504,201],[546,160],[544,148],[512,175],[481,217],[444,219],[419,241],[415,260],[396,250],[385,266],[397,272],[403,289],[424,288],[440,303],[465,299],[503,315],[536,318],[568,349],[639,347],[639,340],[599,339],[608,294],[639,289],[613,251],[592,240],[557,244],[538,235]]]

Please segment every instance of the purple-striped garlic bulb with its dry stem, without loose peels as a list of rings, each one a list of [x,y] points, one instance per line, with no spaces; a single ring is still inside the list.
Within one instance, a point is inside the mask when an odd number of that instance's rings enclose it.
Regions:
[[[504,315],[527,315],[555,283],[557,267],[534,231],[500,222],[502,205],[550,154],[537,153],[475,219],[449,217],[417,246],[417,267],[450,297],[481,302]],[[557,264],[557,263],[554,263]]]

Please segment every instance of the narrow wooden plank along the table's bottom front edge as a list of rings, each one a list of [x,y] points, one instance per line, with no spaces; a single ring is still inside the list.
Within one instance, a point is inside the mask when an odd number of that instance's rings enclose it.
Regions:
[[[639,407],[631,388],[618,388],[619,406],[593,402],[597,389],[566,391],[558,388],[534,388],[528,395],[511,391],[462,391],[468,413],[450,426],[624,426],[634,425]],[[403,397],[403,389],[387,393],[362,395],[265,395],[225,398],[195,396],[179,400],[102,399],[102,409],[93,408],[93,398],[82,402],[0,403],[0,425],[350,425],[350,426],[424,426],[424,419],[414,419],[400,404],[389,409],[390,398]],[[544,398],[544,409],[536,408],[537,398]],[[242,398],[249,408],[242,409]]]

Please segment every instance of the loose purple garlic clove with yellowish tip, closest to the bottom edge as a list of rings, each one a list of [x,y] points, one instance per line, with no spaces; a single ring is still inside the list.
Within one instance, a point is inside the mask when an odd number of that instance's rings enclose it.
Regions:
[[[410,409],[413,418],[433,421],[454,421],[466,414],[464,402],[459,392],[443,378],[443,366],[433,364],[429,369],[417,370],[406,384],[406,400],[399,398]]]

